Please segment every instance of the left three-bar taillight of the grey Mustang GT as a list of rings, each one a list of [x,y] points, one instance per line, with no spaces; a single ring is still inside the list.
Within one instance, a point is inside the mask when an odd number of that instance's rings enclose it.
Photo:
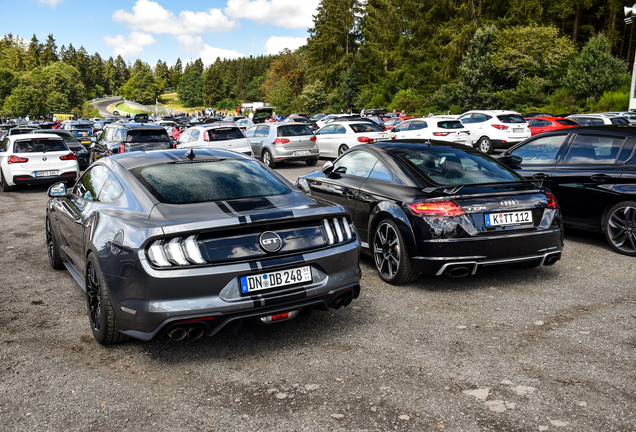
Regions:
[[[186,239],[175,237],[170,241],[156,240],[148,248],[148,258],[157,267],[205,264],[196,235]]]

